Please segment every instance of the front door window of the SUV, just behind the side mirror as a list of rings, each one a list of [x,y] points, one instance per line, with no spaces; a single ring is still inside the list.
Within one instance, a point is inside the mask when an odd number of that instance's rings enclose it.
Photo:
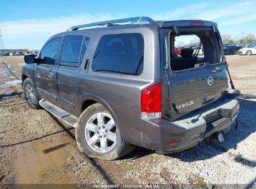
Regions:
[[[40,63],[54,64],[60,45],[60,37],[50,40],[40,52]]]

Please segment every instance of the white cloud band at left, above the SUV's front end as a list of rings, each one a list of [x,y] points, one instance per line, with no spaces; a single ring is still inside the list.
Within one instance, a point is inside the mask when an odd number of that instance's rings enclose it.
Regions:
[[[127,14],[77,14],[67,17],[22,19],[0,22],[6,48],[40,48],[54,34],[64,32],[73,25],[107,21],[128,17]]]

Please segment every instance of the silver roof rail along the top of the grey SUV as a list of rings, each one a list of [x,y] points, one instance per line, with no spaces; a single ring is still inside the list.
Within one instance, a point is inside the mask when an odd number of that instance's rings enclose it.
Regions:
[[[112,21],[103,21],[103,22],[94,22],[91,24],[82,24],[82,25],[75,25],[70,27],[67,31],[78,30],[83,27],[92,27],[92,26],[100,26],[100,25],[108,25],[108,24],[118,24],[118,23],[125,23],[130,22],[131,24],[145,24],[145,23],[153,23],[153,19],[145,16],[140,17],[130,17],[126,19],[117,19]]]

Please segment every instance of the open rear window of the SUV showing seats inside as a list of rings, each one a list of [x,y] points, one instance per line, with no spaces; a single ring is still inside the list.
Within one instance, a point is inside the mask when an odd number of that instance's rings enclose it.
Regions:
[[[220,47],[212,30],[183,30],[179,36],[169,33],[171,70],[181,71],[211,66],[221,60]]]

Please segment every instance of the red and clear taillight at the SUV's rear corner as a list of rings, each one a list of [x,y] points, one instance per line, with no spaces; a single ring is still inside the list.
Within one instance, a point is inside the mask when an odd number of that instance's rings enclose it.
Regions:
[[[161,84],[150,86],[141,92],[141,118],[161,118]]]

